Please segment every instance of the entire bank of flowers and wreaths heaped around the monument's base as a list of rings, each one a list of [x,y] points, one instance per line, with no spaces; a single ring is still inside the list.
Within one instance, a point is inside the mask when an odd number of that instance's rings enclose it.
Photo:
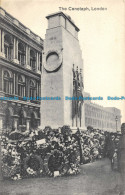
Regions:
[[[99,129],[77,130],[69,126],[45,127],[30,133],[5,131],[1,136],[2,173],[4,178],[75,175],[80,164],[110,156],[114,135]],[[112,137],[112,139],[109,139]],[[114,144],[118,145],[115,137]]]

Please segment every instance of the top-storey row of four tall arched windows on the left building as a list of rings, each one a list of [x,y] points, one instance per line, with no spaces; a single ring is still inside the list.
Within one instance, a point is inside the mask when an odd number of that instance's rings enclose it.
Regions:
[[[13,53],[14,53],[13,45],[14,44],[13,44],[11,35],[6,34],[4,36],[4,53],[5,53],[5,57],[8,60],[13,59]],[[22,42],[19,42],[17,59],[21,65],[26,64],[26,57],[27,57],[26,56],[26,45]],[[36,51],[34,49],[30,49],[29,63],[30,63],[29,65],[31,66],[33,70],[36,69]],[[39,63],[38,63],[39,71],[41,71],[41,67],[42,67],[42,54],[40,55]]]

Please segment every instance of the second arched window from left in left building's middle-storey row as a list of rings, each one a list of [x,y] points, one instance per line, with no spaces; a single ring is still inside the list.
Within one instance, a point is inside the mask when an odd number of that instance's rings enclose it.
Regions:
[[[26,91],[25,77],[19,75],[18,76],[18,95],[20,97],[24,97],[25,91]]]

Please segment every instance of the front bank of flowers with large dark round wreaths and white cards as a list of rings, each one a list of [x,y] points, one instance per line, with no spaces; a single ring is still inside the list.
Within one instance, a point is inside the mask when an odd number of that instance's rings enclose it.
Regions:
[[[20,133],[21,134],[21,133]],[[78,143],[69,126],[45,127],[15,140],[17,132],[3,133],[2,173],[13,180],[26,177],[64,176],[79,173]]]

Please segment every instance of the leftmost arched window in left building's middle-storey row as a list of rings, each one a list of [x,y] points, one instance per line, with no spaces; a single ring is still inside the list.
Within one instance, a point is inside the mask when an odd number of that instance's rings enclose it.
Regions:
[[[4,92],[7,94],[13,93],[13,79],[11,78],[11,75],[8,71],[4,71],[3,74],[3,80],[4,80]]]

